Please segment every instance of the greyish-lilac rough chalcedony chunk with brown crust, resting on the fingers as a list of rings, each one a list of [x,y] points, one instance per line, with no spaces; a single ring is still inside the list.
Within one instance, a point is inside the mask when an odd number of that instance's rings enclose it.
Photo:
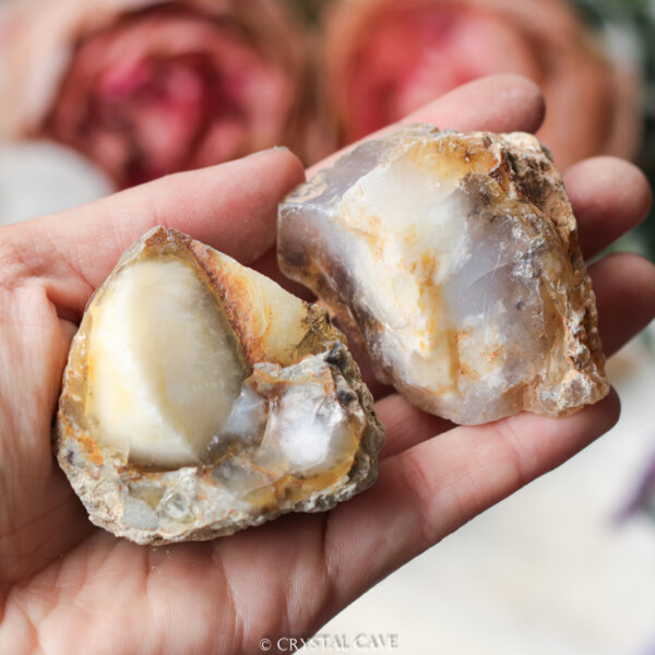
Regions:
[[[285,199],[278,257],[428,412],[558,416],[608,392],[575,219],[529,134],[365,143]]]

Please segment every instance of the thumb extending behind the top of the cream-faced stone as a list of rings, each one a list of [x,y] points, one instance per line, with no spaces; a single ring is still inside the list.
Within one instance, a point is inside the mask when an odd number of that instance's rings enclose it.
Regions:
[[[2,241],[14,275],[43,278],[64,315],[80,314],[120,254],[156,225],[253,261],[275,240],[277,203],[303,179],[290,152],[265,151],[3,227]]]

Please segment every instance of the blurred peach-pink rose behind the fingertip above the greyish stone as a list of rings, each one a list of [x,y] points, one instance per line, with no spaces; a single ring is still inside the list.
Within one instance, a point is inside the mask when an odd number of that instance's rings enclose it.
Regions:
[[[342,1],[325,40],[329,96],[345,142],[460,84],[514,72],[545,93],[539,136],[559,166],[635,153],[636,74],[609,63],[564,0]]]

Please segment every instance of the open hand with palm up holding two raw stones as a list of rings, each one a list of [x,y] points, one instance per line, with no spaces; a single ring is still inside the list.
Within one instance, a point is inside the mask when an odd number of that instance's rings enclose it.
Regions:
[[[406,121],[538,128],[539,91],[515,76],[463,86]],[[572,417],[521,414],[452,427],[396,394],[378,483],[324,514],[288,515],[207,543],[135,546],[95,528],[52,458],[50,425],[70,340],[120,253],[175,227],[272,274],[275,207],[303,179],[267,151],[170,176],[56,216],[0,228],[0,644],[7,653],[257,653],[305,635],[376,582],[607,431],[619,401]],[[565,183],[592,257],[638,224],[651,192],[614,158]],[[655,267],[632,254],[591,267],[608,354],[655,315]],[[271,652],[275,652],[274,647]]]

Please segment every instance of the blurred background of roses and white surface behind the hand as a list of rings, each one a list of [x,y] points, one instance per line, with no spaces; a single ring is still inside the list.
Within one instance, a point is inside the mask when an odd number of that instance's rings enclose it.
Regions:
[[[654,0],[0,0],[0,224],[276,144],[311,164],[497,72],[543,88],[560,168],[610,154],[655,179]],[[655,218],[616,248],[655,261]],[[608,436],[321,634],[654,655],[654,344],[610,361]]]

